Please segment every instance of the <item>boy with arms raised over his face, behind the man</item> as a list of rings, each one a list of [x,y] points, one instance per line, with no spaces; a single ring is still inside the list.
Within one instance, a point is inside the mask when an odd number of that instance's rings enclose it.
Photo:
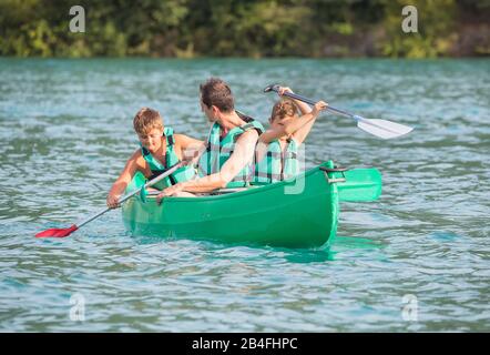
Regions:
[[[293,93],[289,88],[280,87],[278,94],[285,92]],[[282,99],[274,104],[270,129],[257,142],[253,184],[269,184],[299,173],[298,146],[326,108],[324,101],[318,101],[312,110],[306,103],[290,99]]]

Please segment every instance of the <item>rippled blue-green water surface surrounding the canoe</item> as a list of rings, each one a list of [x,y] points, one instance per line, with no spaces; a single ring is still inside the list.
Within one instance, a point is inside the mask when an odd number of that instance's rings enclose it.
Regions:
[[[490,331],[489,73],[489,60],[0,59],[0,331]],[[329,248],[134,237],[119,211],[33,237],[104,206],[141,106],[204,139],[210,75],[263,123],[262,89],[280,82],[415,131],[382,141],[318,120],[308,166],[384,175],[379,201],[341,204]]]

